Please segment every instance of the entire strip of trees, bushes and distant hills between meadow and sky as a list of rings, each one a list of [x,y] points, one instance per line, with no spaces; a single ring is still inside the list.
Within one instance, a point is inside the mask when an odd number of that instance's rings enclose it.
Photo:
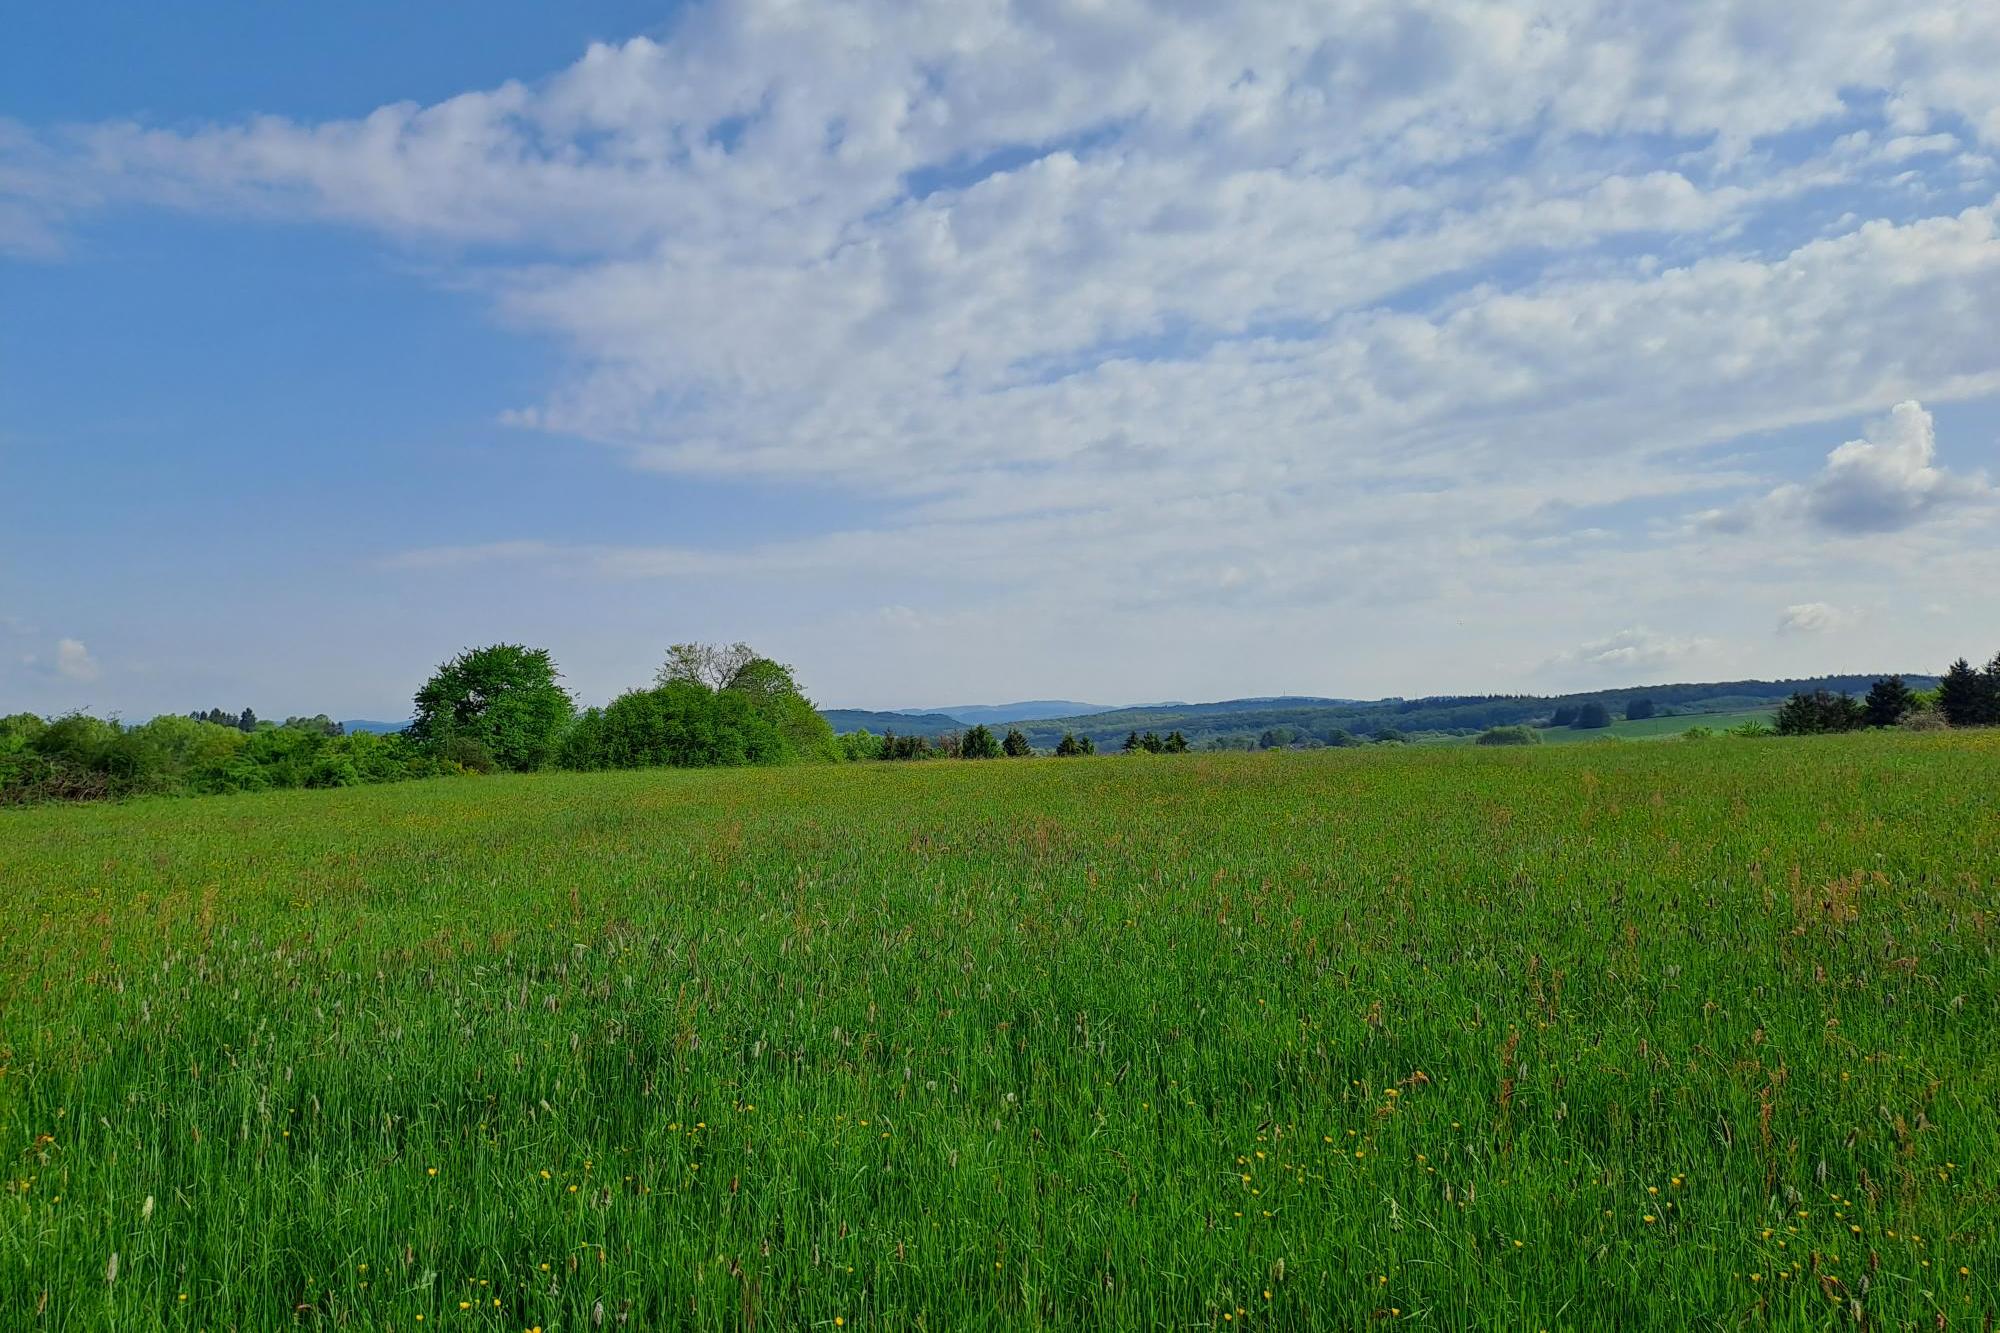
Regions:
[[[358,787],[466,773],[736,767],[920,759],[1082,759],[1318,749],[1476,737],[1532,745],[1550,729],[1774,711],[1746,735],[2000,725],[2000,654],[1942,677],[1816,677],[1428,699],[1236,699],[1022,721],[996,733],[944,715],[820,713],[790,666],[748,644],[672,644],[652,685],[578,711],[546,648],[490,644],[438,666],[402,731],[326,715],[196,709],[124,725],[84,713],[0,717],[0,805],[290,787]],[[878,727],[852,725],[860,719]],[[836,721],[846,727],[836,731]]]

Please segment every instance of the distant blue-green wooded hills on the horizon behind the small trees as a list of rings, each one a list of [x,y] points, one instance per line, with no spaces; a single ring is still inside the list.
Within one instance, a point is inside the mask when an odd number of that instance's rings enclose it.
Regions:
[[[1194,705],[1154,705],[1110,709],[1050,719],[1016,719],[1036,749],[1054,749],[1064,731],[1090,737],[1098,747],[1116,747],[1128,733],[1180,731],[1198,747],[1246,749],[1254,745],[1344,745],[1372,741],[1386,733],[1404,737],[1470,737],[1488,727],[1544,725],[1564,705],[1602,703],[1624,717],[1632,699],[1650,699],[1658,717],[1700,717],[1772,707],[1794,691],[1844,691],[1862,695],[1876,681],[1864,677],[1814,677],[1808,681],[1710,681],[1692,685],[1646,685],[1574,695],[1438,695],[1428,699],[1318,699],[1282,695],[1272,699],[1222,699]],[[1910,689],[1930,689],[1936,677],[1904,675]],[[898,731],[938,735],[964,725],[944,713],[860,713],[828,711],[834,731]],[[848,721],[874,719],[874,721]]]

